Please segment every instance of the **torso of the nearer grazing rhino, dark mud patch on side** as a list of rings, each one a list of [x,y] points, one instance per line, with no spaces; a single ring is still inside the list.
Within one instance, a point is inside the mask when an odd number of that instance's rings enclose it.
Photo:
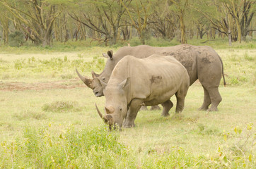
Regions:
[[[189,83],[185,68],[172,56],[139,59],[125,56],[115,66],[108,84],[120,84],[131,77],[131,98],[167,100],[177,92],[182,82]],[[158,99],[159,100],[159,99]]]

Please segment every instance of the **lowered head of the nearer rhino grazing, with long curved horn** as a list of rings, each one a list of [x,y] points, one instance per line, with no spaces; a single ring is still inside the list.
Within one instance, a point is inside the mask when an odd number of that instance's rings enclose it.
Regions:
[[[100,113],[97,105],[96,109],[100,118],[109,125],[110,130],[117,127],[122,127],[124,118],[127,115],[127,95],[129,92],[130,78],[121,82],[120,84],[107,84],[104,93],[106,98],[105,115]],[[104,85],[104,84],[103,84]]]

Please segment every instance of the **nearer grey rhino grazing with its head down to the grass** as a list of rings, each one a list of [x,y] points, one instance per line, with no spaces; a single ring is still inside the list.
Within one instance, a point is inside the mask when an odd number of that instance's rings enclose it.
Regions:
[[[173,107],[170,97],[177,98],[176,113],[184,108],[185,96],[190,86],[190,77],[184,66],[173,56],[154,54],[140,59],[125,56],[115,66],[110,80],[104,84],[105,112],[97,111],[111,127],[134,127],[134,120],[141,105],[162,104],[162,115],[169,115]],[[128,110],[127,110],[128,109]]]

